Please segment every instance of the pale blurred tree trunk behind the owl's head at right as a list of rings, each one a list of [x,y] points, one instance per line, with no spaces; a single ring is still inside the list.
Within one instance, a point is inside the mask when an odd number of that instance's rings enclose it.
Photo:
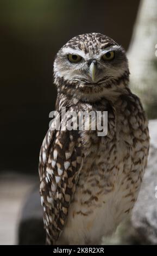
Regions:
[[[141,0],[128,50],[130,87],[149,118],[157,117],[157,1]]]

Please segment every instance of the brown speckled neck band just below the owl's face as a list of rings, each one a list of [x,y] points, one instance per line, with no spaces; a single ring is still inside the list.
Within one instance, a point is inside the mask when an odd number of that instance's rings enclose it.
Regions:
[[[77,99],[81,102],[96,102],[104,97],[108,100],[115,101],[118,96],[129,94],[129,71],[118,78],[110,80],[104,84],[77,84],[68,83],[63,78],[55,80],[58,88],[58,95],[62,94],[69,99]]]

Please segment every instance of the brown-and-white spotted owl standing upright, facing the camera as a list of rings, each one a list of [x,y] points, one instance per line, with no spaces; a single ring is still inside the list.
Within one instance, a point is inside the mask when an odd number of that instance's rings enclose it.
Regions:
[[[77,117],[92,111],[101,113],[99,121],[104,112],[108,118],[103,136],[91,129],[97,116],[89,117],[89,129],[49,127],[39,163],[46,243],[97,245],[137,199],[149,149],[146,114],[129,89],[124,49],[101,33],[78,35],[62,46],[54,84],[58,114],[65,107]]]

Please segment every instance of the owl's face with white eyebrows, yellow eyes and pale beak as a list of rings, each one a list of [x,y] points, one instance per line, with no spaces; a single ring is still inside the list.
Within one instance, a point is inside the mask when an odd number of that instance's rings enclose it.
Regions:
[[[59,52],[54,70],[69,83],[96,85],[120,77],[126,66],[125,54],[117,45],[100,49],[97,53],[66,47]]]

